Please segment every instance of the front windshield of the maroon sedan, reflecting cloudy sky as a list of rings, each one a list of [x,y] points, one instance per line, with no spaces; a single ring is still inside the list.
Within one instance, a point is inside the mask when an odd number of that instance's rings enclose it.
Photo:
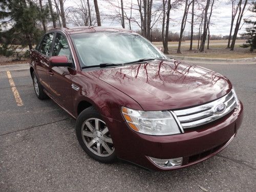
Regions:
[[[136,33],[94,32],[74,34],[71,38],[81,67],[166,58],[150,41]]]

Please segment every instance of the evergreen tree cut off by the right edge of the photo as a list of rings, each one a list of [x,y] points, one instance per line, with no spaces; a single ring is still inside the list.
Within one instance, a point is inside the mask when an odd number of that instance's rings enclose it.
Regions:
[[[252,8],[250,11],[253,14],[256,14],[256,2],[252,2]],[[255,19],[255,15],[253,16]],[[244,19],[244,22],[249,26],[246,28],[246,33],[243,33],[242,36],[248,36],[249,38],[246,40],[246,44],[243,44],[243,48],[250,47],[250,51],[256,49],[256,19]]]

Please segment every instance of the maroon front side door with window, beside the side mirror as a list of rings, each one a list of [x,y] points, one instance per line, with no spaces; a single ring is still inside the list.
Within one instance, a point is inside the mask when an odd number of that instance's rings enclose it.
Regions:
[[[52,56],[67,56],[70,62],[73,63],[73,57],[70,51],[69,43],[66,35],[61,32],[56,32],[53,42]],[[75,65],[73,67],[52,67],[48,70],[48,84],[51,88],[52,97],[63,108],[73,113],[72,99],[72,78],[76,74]]]

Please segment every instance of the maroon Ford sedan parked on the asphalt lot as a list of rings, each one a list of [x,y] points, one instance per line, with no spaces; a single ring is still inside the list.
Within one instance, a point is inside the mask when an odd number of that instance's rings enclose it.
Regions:
[[[100,162],[186,167],[223,150],[242,122],[226,77],[169,59],[132,31],[54,29],[31,57],[36,96],[77,119],[81,147]]]

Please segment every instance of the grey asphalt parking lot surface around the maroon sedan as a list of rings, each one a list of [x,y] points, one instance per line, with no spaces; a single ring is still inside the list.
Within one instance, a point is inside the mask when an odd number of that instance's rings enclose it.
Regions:
[[[29,70],[0,72],[0,191],[256,191],[256,65],[201,65],[227,76],[244,103],[237,136],[217,156],[172,172],[102,164],[79,146],[75,120],[34,94]]]

